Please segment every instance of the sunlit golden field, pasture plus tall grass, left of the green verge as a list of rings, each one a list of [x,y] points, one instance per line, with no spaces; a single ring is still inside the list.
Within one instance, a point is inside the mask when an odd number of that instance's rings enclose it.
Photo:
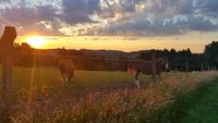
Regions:
[[[158,123],[166,120],[162,111],[168,112],[166,108],[173,106],[178,94],[186,95],[217,75],[169,72],[156,84],[150,76],[141,75],[143,86],[137,89],[132,83],[134,75],[125,72],[76,71],[74,81],[62,86],[56,67],[14,67],[12,107],[0,121]]]

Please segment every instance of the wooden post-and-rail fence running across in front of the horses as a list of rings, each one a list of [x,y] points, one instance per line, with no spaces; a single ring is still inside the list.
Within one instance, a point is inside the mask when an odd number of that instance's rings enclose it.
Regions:
[[[12,46],[13,41],[16,37],[16,30],[13,27],[5,27],[4,34],[1,38],[0,41],[0,47],[1,47],[1,57],[2,57],[2,63],[3,63],[3,74],[2,74],[2,82],[3,82],[3,98],[5,98],[5,94],[10,91],[11,86],[12,86]],[[28,54],[32,57],[36,56],[47,56],[47,54],[39,54],[38,52],[14,52],[17,54]],[[48,56],[47,56],[48,57]],[[92,57],[78,57],[78,56],[50,56],[53,58],[69,58],[69,59],[85,59],[85,60],[101,60],[101,61],[116,61],[116,62],[130,62],[130,61],[140,61],[140,60],[121,60],[121,59],[101,59],[101,58],[92,58]],[[142,61],[141,61],[142,62]],[[147,61],[145,61],[147,62]],[[152,50],[152,78],[153,82],[156,82],[156,52],[155,50]],[[182,67],[185,67],[185,72],[187,73],[190,70],[190,64],[189,62],[184,64],[173,64],[173,65],[181,65]],[[208,67],[211,69],[211,67]],[[215,69],[215,67],[213,67]],[[204,64],[201,64],[201,70],[204,70]]]

